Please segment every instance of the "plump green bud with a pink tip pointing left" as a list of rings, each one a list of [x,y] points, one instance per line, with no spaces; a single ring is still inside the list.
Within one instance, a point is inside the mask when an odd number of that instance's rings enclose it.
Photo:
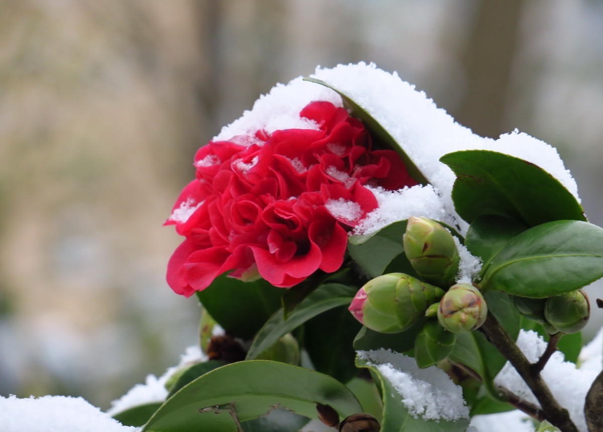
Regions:
[[[371,330],[382,333],[405,331],[425,315],[444,291],[405,273],[377,276],[362,287],[349,310]]]

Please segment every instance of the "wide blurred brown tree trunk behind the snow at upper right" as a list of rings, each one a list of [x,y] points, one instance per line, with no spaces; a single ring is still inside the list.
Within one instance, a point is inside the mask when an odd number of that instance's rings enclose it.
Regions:
[[[463,54],[467,89],[455,114],[478,135],[498,138],[504,130],[511,67],[522,0],[482,0]]]

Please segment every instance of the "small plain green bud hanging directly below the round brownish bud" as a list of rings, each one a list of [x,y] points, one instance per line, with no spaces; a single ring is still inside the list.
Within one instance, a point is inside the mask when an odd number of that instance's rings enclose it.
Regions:
[[[414,356],[417,366],[424,368],[450,355],[456,334],[444,329],[436,320],[428,320],[415,338]]]

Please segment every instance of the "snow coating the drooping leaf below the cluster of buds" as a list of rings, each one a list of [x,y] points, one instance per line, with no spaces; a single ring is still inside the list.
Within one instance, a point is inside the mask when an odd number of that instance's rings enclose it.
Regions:
[[[357,354],[391,383],[414,418],[450,421],[469,418],[463,390],[438,367],[419,369],[414,358],[388,349]]]

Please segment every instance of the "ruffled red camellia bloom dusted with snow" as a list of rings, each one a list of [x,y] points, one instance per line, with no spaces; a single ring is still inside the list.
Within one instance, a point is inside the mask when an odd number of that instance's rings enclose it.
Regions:
[[[328,102],[300,116],[319,130],[286,129],[212,141],[195,155],[197,179],[166,225],[185,241],[168,264],[168,284],[191,296],[224,272],[291,287],[343,263],[347,232],[377,200],[365,186],[417,184],[391,150],[371,150],[358,119]]]

